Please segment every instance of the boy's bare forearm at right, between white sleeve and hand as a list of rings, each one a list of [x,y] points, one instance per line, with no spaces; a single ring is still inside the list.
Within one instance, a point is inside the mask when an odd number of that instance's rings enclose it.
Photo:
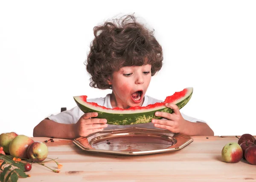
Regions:
[[[188,125],[184,134],[188,136],[214,136],[214,132],[205,122],[187,122]]]

